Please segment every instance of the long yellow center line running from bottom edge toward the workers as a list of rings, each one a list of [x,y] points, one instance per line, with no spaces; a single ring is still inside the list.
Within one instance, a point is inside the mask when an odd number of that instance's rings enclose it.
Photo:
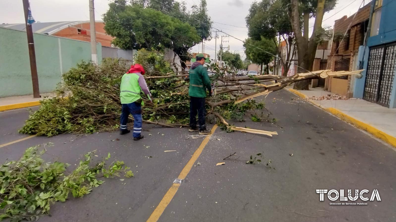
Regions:
[[[201,145],[198,147],[198,149],[196,149],[194,154],[192,154],[190,160],[188,161],[186,166],[183,168],[183,170],[181,171],[181,173],[179,174],[179,177],[177,179],[184,180],[187,177],[187,174],[190,172],[195,161],[198,159],[201,152],[204,150],[206,144],[209,142],[210,137],[215,133],[216,128],[217,128],[217,124],[213,126],[212,134],[207,135],[205,137],[204,141],[202,141]],[[179,189],[179,186],[180,186],[180,184],[177,184],[177,183],[172,184],[172,186],[169,188],[168,192],[166,192],[164,198],[162,198],[161,202],[158,204],[158,206],[152,212],[150,217],[147,219],[147,222],[156,222],[160,218],[160,216],[164,212],[165,208],[171,202],[173,196],[175,196],[177,190]]]

